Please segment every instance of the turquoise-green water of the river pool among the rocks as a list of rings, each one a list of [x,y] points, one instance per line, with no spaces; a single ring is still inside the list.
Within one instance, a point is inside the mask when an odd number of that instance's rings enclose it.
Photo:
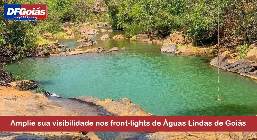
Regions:
[[[97,40],[103,34],[92,37]],[[58,40],[70,48],[81,44],[75,39]],[[88,48],[95,47],[126,50],[27,58],[21,61],[23,74],[65,98],[126,97],[155,115],[257,114],[257,83],[251,78],[221,70],[220,98],[224,101],[214,100],[218,96],[218,72],[209,64],[213,55],[161,53],[159,44],[126,39],[99,41]],[[6,71],[22,75],[17,63],[8,64]]]

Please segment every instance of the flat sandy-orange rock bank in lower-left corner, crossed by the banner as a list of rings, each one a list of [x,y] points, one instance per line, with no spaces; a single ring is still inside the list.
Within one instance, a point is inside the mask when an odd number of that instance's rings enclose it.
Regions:
[[[78,116],[41,94],[18,91],[0,86],[0,115],[2,116]],[[93,133],[79,132],[0,132],[1,140],[98,140]]]

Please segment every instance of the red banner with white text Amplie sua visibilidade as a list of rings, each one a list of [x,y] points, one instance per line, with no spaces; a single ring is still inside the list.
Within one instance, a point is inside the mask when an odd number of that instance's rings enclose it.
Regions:
[[[0,131],[257,131],[256,116],[0,116]]]

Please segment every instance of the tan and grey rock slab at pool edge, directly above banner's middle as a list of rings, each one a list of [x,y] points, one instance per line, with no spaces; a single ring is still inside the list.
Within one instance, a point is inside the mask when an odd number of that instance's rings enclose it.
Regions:
[[[137,104],[132,104],[131,100],[128,98],[121,98],[117,101],[112,99],[105,99],[101,101],[98,98],[93,98],[91,96],[81,96],[75,97],[81,101],[103,106],[104,110],[119,115],[119,116],[151,116],[149,112],[142,109]]]

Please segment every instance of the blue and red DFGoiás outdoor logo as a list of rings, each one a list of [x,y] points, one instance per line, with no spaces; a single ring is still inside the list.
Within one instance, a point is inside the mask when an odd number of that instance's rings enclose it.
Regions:
[[[4,19],[14,21],[35,21],[47,19],[46,4],[5,4]]]

